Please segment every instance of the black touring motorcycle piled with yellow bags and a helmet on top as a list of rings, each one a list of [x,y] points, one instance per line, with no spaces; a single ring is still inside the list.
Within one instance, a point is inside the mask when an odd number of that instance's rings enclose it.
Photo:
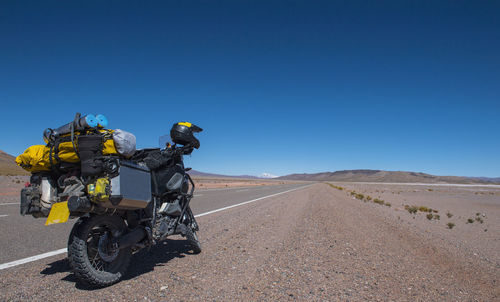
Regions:
[[[135,149],[135,136],[106,129],[104,116],[77,114],[74,121],[46,129],[46,145],[16,158],[32,172],[21,190],[21,215],[47,217],[46,225],[78,218],[68,239],[68,260],[85,283],[118,282],[133,253],[170,235],[182,235],[201,252],[198,224],[189,207],[195,185],[183,156],[200,147],[202,129],[173,125],[173,145]]]

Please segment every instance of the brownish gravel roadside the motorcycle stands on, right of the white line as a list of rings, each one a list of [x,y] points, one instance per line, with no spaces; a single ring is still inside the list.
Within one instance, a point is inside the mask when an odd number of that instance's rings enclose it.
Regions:
[[[201,254],[169,240],[108,288],[75,282],[62,256],[1,271],[0,300],[500,300],[498,243],[487,261],[457,244],[459,229],[426,232],[398,214],[316,184],[200,217]]]

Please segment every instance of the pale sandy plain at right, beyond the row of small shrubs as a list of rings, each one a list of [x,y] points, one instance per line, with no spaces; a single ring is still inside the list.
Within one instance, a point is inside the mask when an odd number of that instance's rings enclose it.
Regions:
[[[450,241],[467,250],[473,257],[479,257],[500,268],[500,187],[359,183],[336,185],[345,187],[346,191],[356,191],[390,203],[392,210],[385,212],[392,218],[417,228],[423,234],[432,234]],[[350,193],[349,196],[353,198]],[[410,214],[405,205],[425,206],[438,212],[433,211],[434,217],[429,220],[428,212]],[[448,223],[455,226],[450,230]]]

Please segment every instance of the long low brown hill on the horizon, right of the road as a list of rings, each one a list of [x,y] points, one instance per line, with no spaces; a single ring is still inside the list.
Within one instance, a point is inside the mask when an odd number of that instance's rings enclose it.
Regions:
[[[309,181],[345,181],[345,182],[394,182],[394,183],[454,183],[454,184],[494,184],[498,178],[436,176],[420,172],[382,171],[382,170],[343,170],[316,174],[290,174],[278,179]]]

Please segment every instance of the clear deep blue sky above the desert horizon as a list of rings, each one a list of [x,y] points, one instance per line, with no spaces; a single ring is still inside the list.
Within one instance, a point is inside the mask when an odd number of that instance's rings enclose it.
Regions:
[[[0,149],[75,112],[194,169],[500,176],[498,1],[2,1]]]

